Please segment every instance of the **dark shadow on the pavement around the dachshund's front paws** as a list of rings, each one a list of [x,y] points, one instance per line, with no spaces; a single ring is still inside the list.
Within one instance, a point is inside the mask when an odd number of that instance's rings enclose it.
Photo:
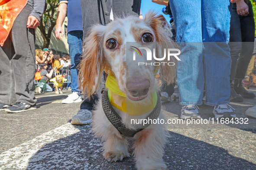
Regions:
[[[75,126],[80,132],[49,143],[29,160],[32,169],[133,170],[133,157],[110,163],[102,156],[102,144],[93,138],[89,126]],[[206,142],[170,132],[164,161],[168,169],[256,169],[256,165],[229,154],[229,151]],[[130,149],[133,139],[129,139]]]

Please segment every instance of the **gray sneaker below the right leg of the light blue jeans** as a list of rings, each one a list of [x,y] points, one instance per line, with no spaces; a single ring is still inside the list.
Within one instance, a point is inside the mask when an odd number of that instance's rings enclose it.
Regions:
[[[217,106],[214,106],[214,116],[215,119],[217,118],[237,118],[236,113],[234,113],[235,110],[233,107],[231,107],[229,104],[220,104]]]

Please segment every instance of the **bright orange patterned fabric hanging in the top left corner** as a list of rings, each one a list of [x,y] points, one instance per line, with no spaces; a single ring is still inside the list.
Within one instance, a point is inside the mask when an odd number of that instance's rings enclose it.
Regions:
[[[0,0],[0,45],[2,47],[13,27],[13,22],[27,2],[28,0]]]

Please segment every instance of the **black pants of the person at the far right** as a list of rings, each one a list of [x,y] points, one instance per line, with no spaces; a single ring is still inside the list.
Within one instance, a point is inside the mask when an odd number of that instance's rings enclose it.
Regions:
[[[230,19],[230,55],[232,59],[230,80],[243,79],[253,55],[255,25],[253,7],[247,3],[249,15],[237,14],[237,5],[233,3]]]

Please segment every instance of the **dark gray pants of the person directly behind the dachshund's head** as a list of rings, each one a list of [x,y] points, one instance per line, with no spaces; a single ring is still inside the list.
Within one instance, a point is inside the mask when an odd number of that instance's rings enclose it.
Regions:
[[[141,0],[81,0],[84,38],[92,25],[107,25],[110,22],[110,11],[114,18],[135,15],[139,16]],[[92,110],[98,100],[96,94],[91,99],[85,98],[80,109]]]

